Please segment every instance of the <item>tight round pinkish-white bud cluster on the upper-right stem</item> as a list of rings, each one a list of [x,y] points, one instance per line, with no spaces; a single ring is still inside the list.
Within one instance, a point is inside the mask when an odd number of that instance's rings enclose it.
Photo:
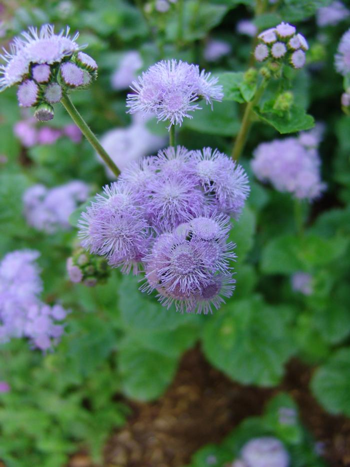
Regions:
[[[308,44],[301,34],[296,33],[294,26],[281,23],[257,37],[259,44],[255,47],[254,57],[258,62],[270,59],[271,63],[285,63],[295,69],[304,66]]]

